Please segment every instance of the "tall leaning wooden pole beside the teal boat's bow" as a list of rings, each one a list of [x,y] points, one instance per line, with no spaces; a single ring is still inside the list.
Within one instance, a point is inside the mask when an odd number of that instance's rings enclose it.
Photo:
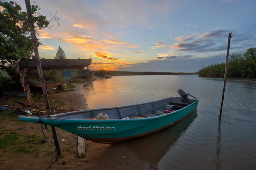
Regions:
[[[38,48],[37,48],[37,39],[35,36],[35,28],[34,28],[34,21],[33,21],[33,16],[32,16],[32,11],[31,11],[30,0],[25,0],[25,3],[26,3],[27,13],[28,13],[29,28],[30,28],[30,32],[31,32],[31,38],[32,38],[32,43],[33,43],[33,48],[34,48],[34,53],[35,53],[38,76],[39,76],[39,80],[40,80],[40,83],[42,86],[42,93],[44,93],[44,97],[45,97],[47,113],[48,113],[48,115],[51,115],[51,108],[50,108],[48,95],[47,95],[47,91],[46,91],[44,76],[42,75],[41,61],[40,61]],[[56,131],[53,126],[51,126],[51,129],[52,129],[52,135],[53,135],[57,155],[60,156],[61,153],[60,153],[60,147],[59,147]]]

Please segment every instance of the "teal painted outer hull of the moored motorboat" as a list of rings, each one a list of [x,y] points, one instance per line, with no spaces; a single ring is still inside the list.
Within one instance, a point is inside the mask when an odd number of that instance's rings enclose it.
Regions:
[[[166,99],[165,99],[166,100]],[[166,100],[168,101],[168,99]],[[161,105],[168,104],[165,102]],[[138,108],[145,106],[148,107],[150,103],[127,106],[127,108]],[[153,104],[154,105],[154,104]],[[168,126],[171,126],[181,119],[189,115],[190,113],[196,111],[198,105],[198,100],[195,100],[190,105],[183,107],[172,113],[167,113],[163,115],[158,115],[155,117],[138,118],[138,119],[108,119],[108,120],[95,120],[95,119],[74,119],[72,112],[62,113],[68,114],[66,119],[55,117],[53,115],[51,118],[35,118],[32,116],[19,116],[19,120],[44,123],[47,125],[55,126],[60,129],[66,130],[75,135],[81,136],[85,139],[99,142],[99,143],[112,143],[117,141],[122,141],[134,137],[139,137],[154,133]],[[155,107],[154,107],[155,108]],[[122,107],[110,108],[109,110],[118,109],[119,111]],[[88,110],[88,112],[100,112],[100,109]],[[108,110],[105,110],[108,112]],[[82,111],[78,111],[81,114],[85,114]],[[73,117],[72,117],[73,116]],[[79,115],[76,115],[79,117]]]

